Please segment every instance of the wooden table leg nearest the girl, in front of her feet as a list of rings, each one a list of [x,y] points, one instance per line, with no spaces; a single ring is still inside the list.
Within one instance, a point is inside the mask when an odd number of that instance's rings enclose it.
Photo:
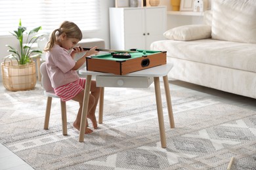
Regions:
[[[85,139],[85,127],[86,127],[86,119],[88,113],[88,103],[89,103],[89,94],[91,89],[91,75],[86,76],[85,83],[85,93],[83,95],[83,109],[81,115],[81,124],[80,124],[80,132],[79,132],[79,142],[82,143]]]

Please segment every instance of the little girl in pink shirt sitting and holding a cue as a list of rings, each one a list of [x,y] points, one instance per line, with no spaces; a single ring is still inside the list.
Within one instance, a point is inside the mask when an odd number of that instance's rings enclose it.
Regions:
[[[51,80],[54,92],[62,101],[70,99],[79,102],[79,110],[73,126],[79,130],[81,122],[81,112],[83,107],[83,93],[85,88],[85,78],[79,78],[77,69],[86,61],[86,56],[98,53],[96,46],[91,48],[87,53],[74,60],[75,54],[83,52],[83,48],[74,47],[77,42],[81,41],[82,33],[79,27],[73,22],[65,21],[58,29],[51,34],[49,42],[45,47],[45,59],[47,73]],[[71,52],[69,52],[71,50]],[[100,95],[100,88],[96,87],[96,82],[91,82],[91,93],[89,97],[89,106],[87,118],[93,122],[93,127],[97,128],[95,110]],[[85,127],[85,133],[91,133],[93,130]]]

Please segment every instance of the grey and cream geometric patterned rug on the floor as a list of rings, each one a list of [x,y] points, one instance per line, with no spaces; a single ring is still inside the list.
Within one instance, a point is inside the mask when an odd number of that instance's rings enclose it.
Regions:
[[[5,91],[0,95],[0,142],[34,169],[226,169],[232,156],[232,169],[256,169],[255,111],[171,89],[171,129],[164,94],[162,99],[167,148],[160,144],[154,85],[105,88],[103,124],[85,135],[84,143],[72,127],[78,109],[74,101],[67,102],[68,135],[63,136],[58,99],[44,130],[41,86]]]

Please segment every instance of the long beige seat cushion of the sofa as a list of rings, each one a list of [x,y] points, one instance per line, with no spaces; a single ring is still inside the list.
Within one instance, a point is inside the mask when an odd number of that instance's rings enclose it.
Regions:
[[[186,42],[165,40],[153,42],[150,49],[167,51],[167,61],[169,57],[179,58],[256,73],[256,44],[212,39]]]

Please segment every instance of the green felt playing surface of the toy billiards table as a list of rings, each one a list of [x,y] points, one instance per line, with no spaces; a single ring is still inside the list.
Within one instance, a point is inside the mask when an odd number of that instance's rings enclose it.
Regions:
[[[143,52],[146,54],[143,54]],[[140,58],[142,56],[149,56],[152,54],[157,54],[160,53],[160,51],[151,51],[151,50],[137,50],[137,52],[131,52],[129,53],[131,55],[131,58],[113,58],[112,54],[102,54],[102,55],[97,55],[93,56],[93,58],[97,59],[108,59],[108,60],[114,60],[114,61],[123,61],[127,59],[134,59],[134,58]],[[119,52],[116,52],[116,54],[120,54]]]

